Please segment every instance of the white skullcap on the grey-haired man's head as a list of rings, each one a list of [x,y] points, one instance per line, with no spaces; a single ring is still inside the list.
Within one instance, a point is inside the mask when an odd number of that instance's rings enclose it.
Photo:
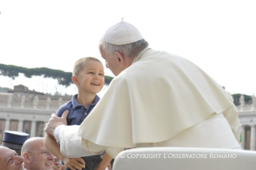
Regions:
[[[137,42],[143,39],[140,31],[128,22],[119,22],[115,26],[108,28],[104,34],[104,42],[115,45],[124,45]]]

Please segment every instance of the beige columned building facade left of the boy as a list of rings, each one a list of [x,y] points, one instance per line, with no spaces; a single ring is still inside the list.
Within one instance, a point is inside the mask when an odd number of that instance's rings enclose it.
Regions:
[[[39,93],[0,93],[0,140],[4,131],[26,132],[30,137],[45,136],[43,128],[51,113],[71,95],[43,95]]]

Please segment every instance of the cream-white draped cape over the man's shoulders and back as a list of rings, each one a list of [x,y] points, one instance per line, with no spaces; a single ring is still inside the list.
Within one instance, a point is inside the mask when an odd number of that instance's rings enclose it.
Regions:
[[[226,130],[237,133],[238,111],[235,107],[226,111],[230,107],[234,107],[231,95],[195,64],[146,48],[112,80],[80,125],[79,136],[83,148],[95,153],[106,150],[115,157],[124,148],[170,140],[212,114],[223,113],[230,124]]]

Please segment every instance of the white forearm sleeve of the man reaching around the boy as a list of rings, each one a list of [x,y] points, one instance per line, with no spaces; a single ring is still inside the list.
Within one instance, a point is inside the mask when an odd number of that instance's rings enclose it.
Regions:
[[[79,136],[79,125],[63,126],[59,128],[60,152],[68,158],[94,156],[83,148],[82,138]]]

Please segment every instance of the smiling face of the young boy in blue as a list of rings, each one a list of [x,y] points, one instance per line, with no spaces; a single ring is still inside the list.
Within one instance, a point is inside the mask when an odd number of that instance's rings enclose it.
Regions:
[[[104,67],[102,63],[91,60],[79,71],[76,84],[79,91],[96,94],[104,87]]]

